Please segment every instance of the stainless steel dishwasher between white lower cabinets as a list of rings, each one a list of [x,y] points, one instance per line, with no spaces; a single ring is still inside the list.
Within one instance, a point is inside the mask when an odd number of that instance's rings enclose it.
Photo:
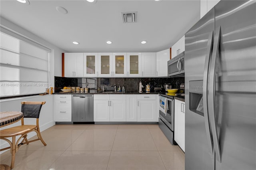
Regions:
[[[93,122],[93,95],[72,95],[72,122]]]

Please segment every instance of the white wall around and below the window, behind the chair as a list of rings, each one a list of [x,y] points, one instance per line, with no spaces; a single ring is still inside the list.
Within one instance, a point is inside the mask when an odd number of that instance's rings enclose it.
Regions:
[[[51,83],[51,86],[54,87],[54,76],[61,76],[62,73],[62,54],[66,51],[63,49],[60,49],[56,47],[56,45],[53,45],[43,38],[40,38],[31,32],[28,32],[27,30],[21,28],[20,26],[6,20],[5,18],[0,18],[1,27],[6,28],[8,30],[12,30],[12,32],[16,32],[17,34],[21,34],[22,36],[28,38],[29,40],[32,40],[36,43],[39,43],[45,47],[48,47],[52,50],[49,56],[49,83]],[[40,125],[40,131],[43,131],[53,125],[55,125],[55,122],[53,121],[53,95],[46,95],[46,96],[30,96],[30,97],[18,97],[13,99],[1,99],[0,100],[0,111],[20,111],[21,110],[21,102],[22,101],[46,101],[46,104],[43,105],[40,118],[39,118],[39,125]],[[32,118],[26,118],[24,120],[24,123],[29,124],[35,124],[36,119]],[[20,121],[17,123],[14,123],[12,125],[8,125],[6,127],[2,127],[0,129],[9,128],[13,126],[20,125]],[[35,132],[32,132],[28,135],[28,138],[31,138],[32,136],[36,135]],[[0,148],[7,147],[9,144],[5,142],[4,140],[0,140]]]

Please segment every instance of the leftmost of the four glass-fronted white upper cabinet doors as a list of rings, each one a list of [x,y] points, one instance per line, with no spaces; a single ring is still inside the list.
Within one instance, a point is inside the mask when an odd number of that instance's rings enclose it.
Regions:
[[[97,77],[98,53],[84,53],[84,77]]]

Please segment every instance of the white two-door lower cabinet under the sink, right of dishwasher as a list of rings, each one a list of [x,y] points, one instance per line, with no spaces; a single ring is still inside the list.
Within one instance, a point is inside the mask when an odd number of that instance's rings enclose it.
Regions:
[[[94,122],[125,122],[125,95],[94,95]]]

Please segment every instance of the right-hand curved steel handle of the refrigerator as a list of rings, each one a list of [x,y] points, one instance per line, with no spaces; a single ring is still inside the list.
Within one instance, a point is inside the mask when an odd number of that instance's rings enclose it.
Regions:
[[[216,29],[214,44],[212,49],[212,58],[210,63],[210,76],[209,76],[209,115],[210,122],[212,127],[212,139],[214,143],[215,156],[219,162],[221,162],[220,154],[220,144],[218,139],[218,131],[215,120],[215,69],[216,69],[216,60],[219,53],[219,44],[220,44],[220,27]]]

